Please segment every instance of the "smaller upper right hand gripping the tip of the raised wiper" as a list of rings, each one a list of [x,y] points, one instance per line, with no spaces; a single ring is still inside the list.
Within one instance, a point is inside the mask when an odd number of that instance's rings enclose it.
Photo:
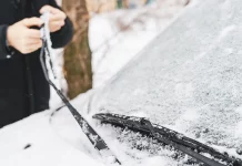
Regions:
[[[60,9],[53,8],[51,6],[44,6],[40,9],[40,13],[50,12],[49,28],[50,32],[57,32],[64,25],[64,20],[67,14]]]

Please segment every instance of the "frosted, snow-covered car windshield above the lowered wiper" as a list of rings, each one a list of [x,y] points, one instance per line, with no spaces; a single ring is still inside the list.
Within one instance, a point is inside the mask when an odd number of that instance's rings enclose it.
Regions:
[[[109,84],[94,113],[144,116],[206,144],[242,146],[242,1],[194,1]]]

